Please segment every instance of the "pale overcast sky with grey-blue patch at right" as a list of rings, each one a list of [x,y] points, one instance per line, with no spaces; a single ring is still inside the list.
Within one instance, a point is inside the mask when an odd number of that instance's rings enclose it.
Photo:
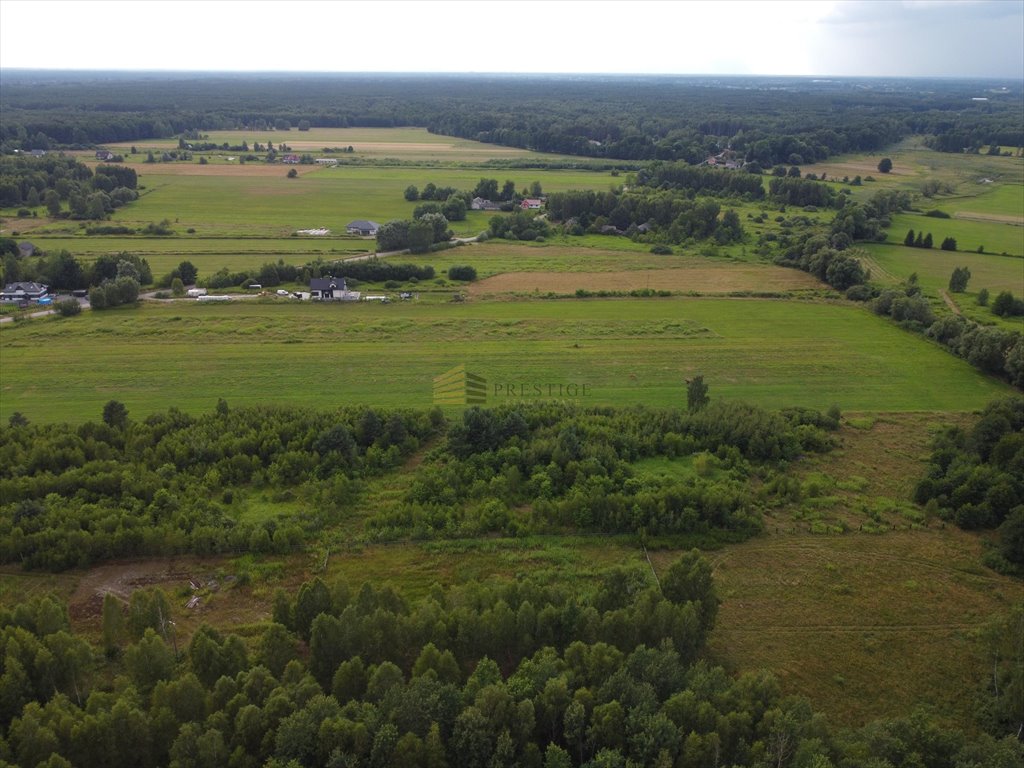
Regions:
[[[1024,80],[1024,0],[0,0],[0,68]]]

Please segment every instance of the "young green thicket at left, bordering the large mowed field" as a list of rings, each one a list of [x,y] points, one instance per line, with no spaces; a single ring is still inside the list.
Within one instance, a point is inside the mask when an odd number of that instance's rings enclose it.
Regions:
[[[14,420],[0,429],[0,562],[288,551],[440,424],[437,413],[225,403],[198,418],[172,409],[136,422],[122,407],[79,427]],[[250,486],[301,496],[308,511],[240,523],[236,492]]]

